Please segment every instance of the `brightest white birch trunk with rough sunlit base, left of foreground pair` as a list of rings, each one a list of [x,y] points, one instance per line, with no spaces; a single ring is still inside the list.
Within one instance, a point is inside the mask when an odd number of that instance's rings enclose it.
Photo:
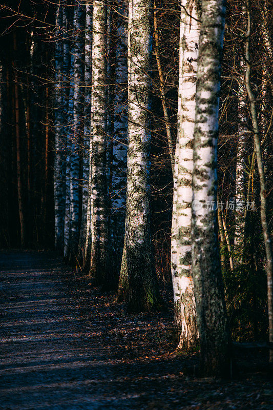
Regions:
[[[201,9],[198,0],[181,1],[178,135],[172,222],[172,278],[178,348],[197,345],[192,278],[191,215],[195,93]]]

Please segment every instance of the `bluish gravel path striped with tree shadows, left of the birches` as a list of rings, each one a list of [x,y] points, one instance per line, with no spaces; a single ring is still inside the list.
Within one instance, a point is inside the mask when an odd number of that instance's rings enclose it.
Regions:
[[[7,252],[0,260],[0,408],[123,407],[126,396],[106,398],[113,366],[100,346],[90,348],[90,331],[82,331],[78,309],[56,281],[60,260],[44,252]]]

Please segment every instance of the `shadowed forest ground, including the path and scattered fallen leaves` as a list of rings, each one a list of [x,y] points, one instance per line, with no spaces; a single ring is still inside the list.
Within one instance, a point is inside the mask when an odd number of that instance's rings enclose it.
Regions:
[[[171,311],[128,314],[52,252],[2,252],[0,292],[0,409],[273,409],[264,354],[202,378],[175,352]]]

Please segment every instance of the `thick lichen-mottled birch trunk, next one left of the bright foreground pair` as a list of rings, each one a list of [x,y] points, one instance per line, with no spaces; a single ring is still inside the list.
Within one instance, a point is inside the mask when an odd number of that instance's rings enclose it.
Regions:
[[[128,182],[121,271],[128,274],[129,309],[142,311],[159,304],[151,238],[151,3],[132,0],[129,7]]]

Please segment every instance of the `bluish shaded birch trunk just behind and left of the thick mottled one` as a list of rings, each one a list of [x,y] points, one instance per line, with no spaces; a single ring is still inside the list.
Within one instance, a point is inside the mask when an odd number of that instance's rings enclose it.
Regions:
[[[111,220],[110,220],[110,249],[113,265],[113,279],[118,283],[121,266],[127,183],[127,127],[128,127],[128,2],[117,1],[116,9],[116,78],[114,99],[114,137],[113,137],[113,165],[111,192]]]

